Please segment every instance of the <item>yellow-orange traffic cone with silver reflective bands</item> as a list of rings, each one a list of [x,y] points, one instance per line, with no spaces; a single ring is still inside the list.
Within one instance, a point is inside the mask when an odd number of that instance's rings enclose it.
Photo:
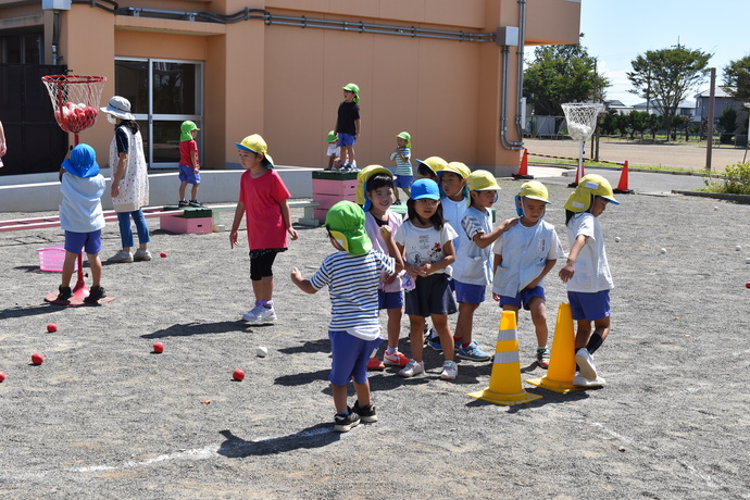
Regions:
[[[541,396],[530,395],[521,386],[518,336],[513,311],[503,311],[500,318],[500,330],[498,332],[498,343],[495,347],[495,362],[489,378],[489,387],[482,392],[471,392],[466,396],[507,407],[541,399]]]

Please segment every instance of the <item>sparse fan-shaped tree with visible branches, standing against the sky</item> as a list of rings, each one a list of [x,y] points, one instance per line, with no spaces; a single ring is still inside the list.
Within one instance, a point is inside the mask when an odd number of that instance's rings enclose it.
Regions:
[[[703,83],[710,59],[710,53],[682,46],[647,50],[630,62],[627,78],[635,87],[630,92],[651,101],[671,130],[677,107]]]

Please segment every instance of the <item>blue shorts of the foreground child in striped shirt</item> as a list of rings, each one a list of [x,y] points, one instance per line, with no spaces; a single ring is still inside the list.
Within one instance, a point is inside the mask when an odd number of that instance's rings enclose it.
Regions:
[[[367,362],[383,340],[364,340],[340,330],[328,330],[328,338],[333,355],[328,380],[335,386],[346,386],[352,378],[354,384],[367,382]]]

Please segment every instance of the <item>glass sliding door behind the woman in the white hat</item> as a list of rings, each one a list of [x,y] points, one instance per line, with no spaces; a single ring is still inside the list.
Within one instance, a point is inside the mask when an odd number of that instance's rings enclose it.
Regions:
[[[143,136],[146,161],[151,168],[179,164],[179,125],[190,120],[201,128],[203,64],[164,59],[115,60],[114,88],[130,101]],[[198,152],[202,155],[199,134]],[[199,159],[202,163],[202,158]]]

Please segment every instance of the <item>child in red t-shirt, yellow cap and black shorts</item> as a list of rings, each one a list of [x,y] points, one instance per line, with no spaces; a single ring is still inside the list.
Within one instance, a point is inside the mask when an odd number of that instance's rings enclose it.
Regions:
[[[247,322],[276,321],[274,311],[274,273],[276,254],[287,249],[287,235],[297,239],[291,227],[291,212],[287,200],[289,190],[274,171],[265,140],[258,134],[236,142],[239,162],[246,172],[240,178],[239,201],[229,233],[229,247],[239,245],[238,229],[247,214],[248,246],[250,247],[250,279],[255,305],[242,315]]]

